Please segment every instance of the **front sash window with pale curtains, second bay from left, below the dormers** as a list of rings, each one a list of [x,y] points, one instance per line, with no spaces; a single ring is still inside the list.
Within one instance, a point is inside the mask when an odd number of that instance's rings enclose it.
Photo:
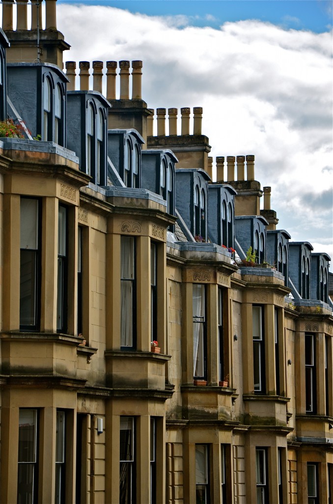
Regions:
[[[135,238],[121,236],[121,347],[133,349],[136,345],[135,301]]]

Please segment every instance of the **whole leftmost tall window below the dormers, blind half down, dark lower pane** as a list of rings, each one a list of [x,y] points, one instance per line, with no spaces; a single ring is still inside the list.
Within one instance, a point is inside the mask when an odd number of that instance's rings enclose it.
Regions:
[[[20,329],[39,329],[40,202],[21,198],[20,209]]]

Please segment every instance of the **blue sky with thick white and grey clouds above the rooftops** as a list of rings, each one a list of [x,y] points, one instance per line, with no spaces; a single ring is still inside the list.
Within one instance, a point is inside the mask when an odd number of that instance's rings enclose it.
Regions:
[[[64,61],[141,59],[149,108],[203,107],[214,161],[254,154],[277,228],[333,260],[332,2],[58,0],[57,24]]]

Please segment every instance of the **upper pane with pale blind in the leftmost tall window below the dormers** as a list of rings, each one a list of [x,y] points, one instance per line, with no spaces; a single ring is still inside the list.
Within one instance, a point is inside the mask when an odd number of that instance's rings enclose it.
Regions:
[[[20,248],[38,248],[38,200],[21,198]]]

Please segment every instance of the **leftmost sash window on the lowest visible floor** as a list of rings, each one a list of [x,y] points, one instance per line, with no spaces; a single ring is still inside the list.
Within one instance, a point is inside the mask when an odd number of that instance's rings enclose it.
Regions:
[[[17,501],[37,502],[37,410],[20,409]]]

